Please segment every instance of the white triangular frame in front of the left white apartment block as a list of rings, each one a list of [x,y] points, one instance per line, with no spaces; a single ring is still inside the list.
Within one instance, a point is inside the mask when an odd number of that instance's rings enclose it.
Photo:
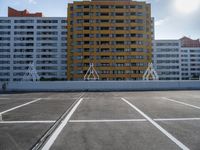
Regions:
[[[37,73],[34,63],[30,63],[30,66],[29,66],[27,72],[25,72],[22,81],[36,82],[39,80],[40,80],[40,76]]]

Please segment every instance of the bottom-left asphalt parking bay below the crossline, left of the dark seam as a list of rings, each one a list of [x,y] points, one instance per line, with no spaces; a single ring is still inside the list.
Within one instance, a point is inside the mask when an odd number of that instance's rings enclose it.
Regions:
[[[2,124],[0,123],[0,149],[27,150],[50,128],[50,124]]]

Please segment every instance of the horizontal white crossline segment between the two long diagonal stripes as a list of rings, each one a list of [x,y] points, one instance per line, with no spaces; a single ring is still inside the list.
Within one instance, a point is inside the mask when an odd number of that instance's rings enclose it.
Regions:
[[[72,123],[98,123],[98,122],[143,122],[146,119],[119,119],[119,120],[70,120]]]

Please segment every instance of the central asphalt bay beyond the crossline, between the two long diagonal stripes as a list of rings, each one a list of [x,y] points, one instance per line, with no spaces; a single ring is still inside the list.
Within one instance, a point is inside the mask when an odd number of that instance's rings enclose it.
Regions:
[[[109,120],[109,119],[141,119],[135,110],[128,108],[120,97],[100,96],[83,98],[80,107],[73,114],[72,120]],[[88,95],[89,96],[89,95]],[[93,98],[95,97],[95,98]]]

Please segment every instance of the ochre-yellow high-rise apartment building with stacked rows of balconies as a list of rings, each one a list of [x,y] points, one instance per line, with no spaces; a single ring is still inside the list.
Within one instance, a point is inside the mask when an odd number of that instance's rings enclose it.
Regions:
[[[151,7],[136,1],[68,5],[68,80],[93,63],[100,80],[141,80],[152,56]]]

